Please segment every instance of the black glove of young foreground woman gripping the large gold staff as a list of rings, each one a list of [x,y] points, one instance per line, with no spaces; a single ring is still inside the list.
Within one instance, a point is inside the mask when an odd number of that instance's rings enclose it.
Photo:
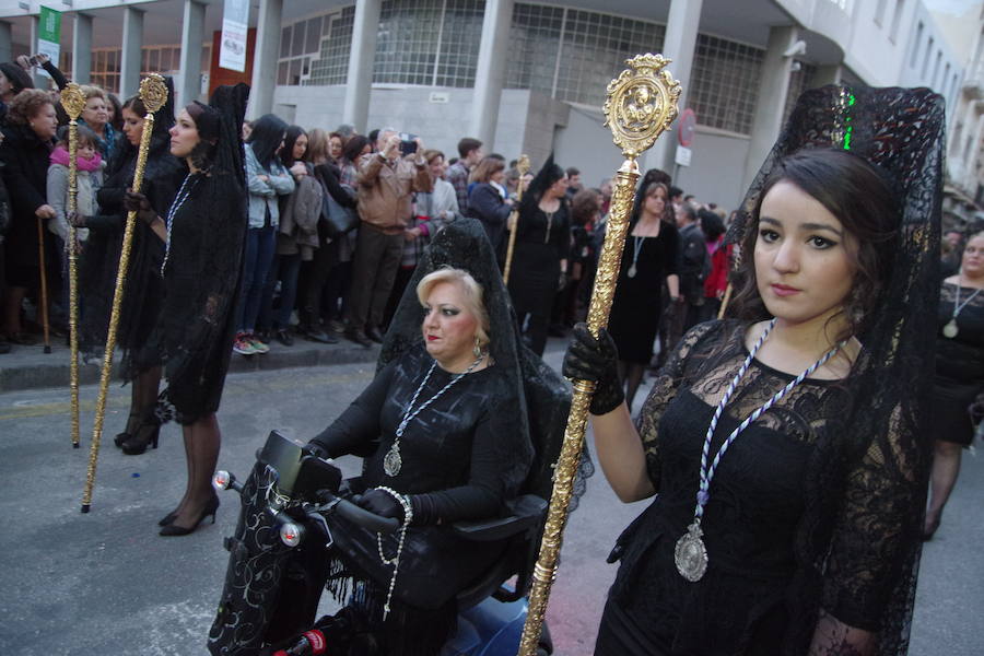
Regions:
[[[625,400],[625,393],[619,380],[619,350],[604,328],[598,339],[595,339],[587,324],[574,326],[571,345],[564,354],[563,374],[575,380],[595,383],[591,414],[608,414]]]

